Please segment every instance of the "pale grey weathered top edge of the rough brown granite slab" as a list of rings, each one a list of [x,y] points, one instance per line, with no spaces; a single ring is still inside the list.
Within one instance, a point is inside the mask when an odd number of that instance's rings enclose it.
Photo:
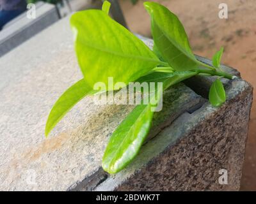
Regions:
[[[241,86],[241,90],[237,91],[236,89],[229,89],[227,91],[227,103],[220,107],[221,110],[225,110],[225,108],[227,108],[227,106],[230,103],[232,103],[232,101],[234,101],[236,99],[236,97],[244,98],[246,96],[250,96],[251,103],[248,106],[251,106],[252,91],[253,91],[252,86],[250,84],[248,84],[247,82],[245,82],[244,80],[241,80],[238,78],[232,80],[232,84],[237,85],[237,83],[239,84],[239,86]],[[202,122],[204,122],[204,120],[210,119],[212,117],[212,115],[218,113],[218,111],[221,111],[221,110],[219,110],[219,108],[212,108],[212,106],[209,103],[205,103],[202,106],[202,108],[197,110],[196,113],[194,113],[194,114],[188,115],[188,113],[184,113],[184,114],[180,115],[180,117],[178,119],[176,119],[175,121],[173,121],[173,124],[170,127],[168,127],[168,129],[172,128],[173,132],[179,133],[179,135],[175,135],[175,138],[173,138],[173,142],[170,145],[167,145],[166,147],[162,147],[162,149],[159,150],[159,152],[154,151],[154,156],[152,156],[150,158],[143,157],[143,154],[147,155],[147,156],[150,155],[149,154],[150,148],[152,148],[152,146],[154,145],[154,143],[156,143],[157,140],[162,140],[161,143],[164,145],[165,138],[163,138],[163,135],[161,135],[161,137],[156,136],[154,138],[154,142],[150,143],[151,142],[150,141],[143,147],[143,150],[141,150],[141,154],[136,158],[136,161],[134,161],[134,163],[131,164],[131,166],[129,166],[126,170],[124,170],[116,175],[111,175],[111,177],[109,177],[104,182],[102,182],[102,184],[97,186],[94,190],[95,191],[116,191],[123,184],[127,184],[127,183],[131,182],[132,178],[136,177],[136,175],[140,174],[140,171],[143,170],[143,168],[146,168],[147,165],[154,163],[154,159],[156,159],[157,157],[162,157],[164,155],[164,152],[168,151],[168,149],[171,149],[180,140],[183,140],[184,138],[186,139],[186,136],[189,135],[189,132],[193,131],[193,129],[196,129],[196,127],[199,126]],[[182,122],[186,123],[192,117],[194,119],[196,118],[196,121],[193,122],[193,125],[191,125],[191,123],[190,123],[189,127],[184,127],[184,129],[186,129],[186,131],[180,131],[180,126],[177,125],[177,121],[182,119]],[[188,121],[184,121],[184,120],[188,120]],[[166,143],[170,143],[170,142],[166,142]],[[143,165],[140,165],[140,163],[138,161],[143,161]]]

